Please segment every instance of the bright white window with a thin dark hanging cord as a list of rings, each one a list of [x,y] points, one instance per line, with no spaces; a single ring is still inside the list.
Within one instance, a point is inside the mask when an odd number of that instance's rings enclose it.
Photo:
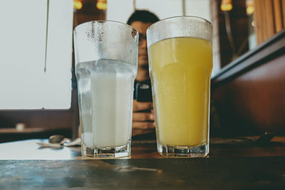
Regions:
[[[73,1],[3,1],[0,23],[0,109],[71,107]]]

